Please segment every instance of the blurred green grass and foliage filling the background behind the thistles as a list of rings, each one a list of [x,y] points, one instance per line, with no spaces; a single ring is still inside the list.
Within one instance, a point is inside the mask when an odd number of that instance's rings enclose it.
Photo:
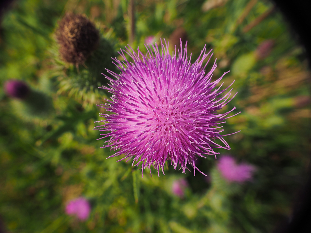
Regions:
[[[207,2],[210,8],[203,11]],[[160,37],[169,39],[182,27],[194,60],[207,44],[217,57],[214,77],[231,70],[224,86],[235,80],[238,94],[226,109],[236,106],[242,113],[224,127],[228,133],[241,132],[227,137],[231,151],[218,151],[255,165],[253,180],[227,183],[212,157],[197,165],[210,179],[171,166],[165,176],[152,171],[153,177],[148,172],[141,177],[131,161],[106,160],[112,153],[99,149],[104,142],[96,141],[99,132],[93,122],[102,111],[95,103],[103,103],[108,93],[93,88],[95,94],[87,102],[80,98],[86,89],[70,94],[76,83],[66,82],[66,72],[83,75],[83,69],[93,72],[94,64],[80,66],[79,74],[59,60],[54,32],[66,11],[86,14],[114,49],[110,59],[128,43],[128,1],[19,0],[2,16],[0,85],[8,79],[24,80],[44,93],[53,111],[26,116],[25,103],[0,89],[0,215],[8,231],[271,232],[291,213],[309,163],[310,73],[303,48],[278,11],[249,26],[273,7],[265,0],[136,0],[135,6],[132,48],[146,51],[147,36],[159,43]],[[259,59],[258,45],[266,39],[274,46]],[[98,82],[107,83],[99,77],[94,87]],[[38,103],[45,109],[42,101]],[[189,183],[183,198],[171,190],[181,177]],[[86,222],[64,213],[67,201],[81,195],[92,206]]]

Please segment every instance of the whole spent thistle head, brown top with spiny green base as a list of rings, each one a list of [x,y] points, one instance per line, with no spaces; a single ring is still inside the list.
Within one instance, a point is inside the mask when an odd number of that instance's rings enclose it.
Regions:
[[[75,98],[84,108],[93,107],[93,104],[104,91],[98,87],[107,82],[102,75],[108,75],[106,69],[118,72],[114,68],[111,57],[117,57],[113,45],[100,36],[99,31],[85,16],[67,13],[60,21],[56,30],[59,43],[59,55],[55,56],[56,69],[63,73],[58,76],[59,93]],[[54,53],[57,54],[57,53]],[[76,67],[59,61],[74,64]],[[58,64],[62,64],[59,67]],[[83,66],[79,67],[79,64]],[[105,97],[104,97],[105,98]]]

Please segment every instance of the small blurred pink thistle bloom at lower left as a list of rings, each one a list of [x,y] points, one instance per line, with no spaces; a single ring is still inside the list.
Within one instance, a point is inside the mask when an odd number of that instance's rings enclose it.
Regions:
[[[66,214],[76,215],[81,221],[85,221],[89,217],[90,212],[91,206],[83,197],[71,200],[66,205]]]

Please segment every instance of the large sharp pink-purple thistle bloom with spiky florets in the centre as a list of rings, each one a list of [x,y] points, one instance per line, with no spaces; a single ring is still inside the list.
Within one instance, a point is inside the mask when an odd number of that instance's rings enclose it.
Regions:
[[[165,45],[161,42],[162,52],[157,44],[152,48],[154,53],[148,47],[146,55],[139,49],[137,53],[121,50],[124,61],[114,59],[121,73],[110,72],[116,80],[107,77],[110,88],[102,87],[113,94],[112,101],[107,100],[108,103],[101,106],[111,113],[100,114],[106,120],[96,122],[105,124],[95,129],[110,131],[101,134],[102,138],[109,137],[108,145],[102,148],[117,150],[110,157],[122,155],[120,160],[134,157],[132,166],[136,162],[135,166],[141,166],[142,172],[154,166],[158,176],[160,168],[164,174],[163,167],[168,160],[174,169],[179,166],[183,173],[190,165],[195,175],[197,157],[216,157],[219,153],[213,148],[230,149],[224,135],[220,135],[223,129],[218,124],[225,123],[229,118],[226,116],[235,107],[226,113],[216,111],[234,97],[228,101],[232,89],[225,94],[229,87],[216,88],[226,74],[212,81],[216,61],[211,71],[205,73],[207,63],[204,66],[203,61],[211,53],[206,54],[206,47],[194,64],[190,62],[191,55],[187,55],[187,44],[182,48],[180,42],[178,56],[176,50],[172,56],[169,54],[166,42]],[[124,52],[133,63],[126,59]],[[223,145],[217,144],[216,139]]]

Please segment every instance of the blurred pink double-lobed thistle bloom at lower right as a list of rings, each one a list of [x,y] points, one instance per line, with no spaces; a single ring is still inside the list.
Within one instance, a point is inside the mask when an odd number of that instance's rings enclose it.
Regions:
[[[253,165],[246,163],[237,164],[234,158],[229,155],[224,155],[220,158],[217,168],[225,180],[238,183],[251,180],[253,172],[255,171]]]

